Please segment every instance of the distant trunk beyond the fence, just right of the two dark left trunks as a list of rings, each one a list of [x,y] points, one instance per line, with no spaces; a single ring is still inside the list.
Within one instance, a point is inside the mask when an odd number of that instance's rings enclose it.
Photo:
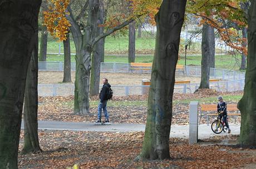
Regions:
[[[47,37],[48,37],[47,28],[45,26],[42,26],[41,40],[40,40],[39,62],[46,62]]]

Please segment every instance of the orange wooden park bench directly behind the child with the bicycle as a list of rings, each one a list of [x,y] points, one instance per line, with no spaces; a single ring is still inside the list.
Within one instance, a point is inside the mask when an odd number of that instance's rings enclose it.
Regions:
[[[199,117],[199,125],[201,121],[201,116],[206,116],[207,118],[207,125],[209,125],[209,116],[217,116],[216,113],[214,114],[202,114],[202,111],[217,111],[217,104],[202,104],[201,105],[201,112]],[[227,111],[236,111],[237,113],[228,113],[228,116],[235,116],[235,122],[237,121],[237,116],[240,116],[239,110],[236,104],[227,104]]]

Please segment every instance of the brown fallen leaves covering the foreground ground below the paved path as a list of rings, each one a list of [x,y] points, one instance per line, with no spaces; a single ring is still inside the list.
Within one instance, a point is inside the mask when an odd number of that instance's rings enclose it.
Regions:
[[[221,141],[223,136],[197,145],[171,138],[171,160],[135,162],[142,148],[143,132],[41,130],[39,134],[43,152],[18,156],[19,168],[66,168],[75,164],[79,168],[235,168],[256,162],[255,149],[207,145]],[[229,139],[237,138],[229,135]]]

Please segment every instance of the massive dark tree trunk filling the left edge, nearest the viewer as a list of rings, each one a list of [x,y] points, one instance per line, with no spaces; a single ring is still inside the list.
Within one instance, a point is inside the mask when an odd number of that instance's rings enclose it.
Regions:
[[[0,3],[0,168],[18,168],[24,89],[40,0]]]

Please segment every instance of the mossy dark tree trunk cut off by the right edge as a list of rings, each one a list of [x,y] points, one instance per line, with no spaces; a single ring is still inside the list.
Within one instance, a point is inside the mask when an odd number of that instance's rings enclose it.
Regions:
[[[248,56],[243,98],[238,103],[241,111],[239,144],[256,146],[256,2],[250,1],[248,17]]]

